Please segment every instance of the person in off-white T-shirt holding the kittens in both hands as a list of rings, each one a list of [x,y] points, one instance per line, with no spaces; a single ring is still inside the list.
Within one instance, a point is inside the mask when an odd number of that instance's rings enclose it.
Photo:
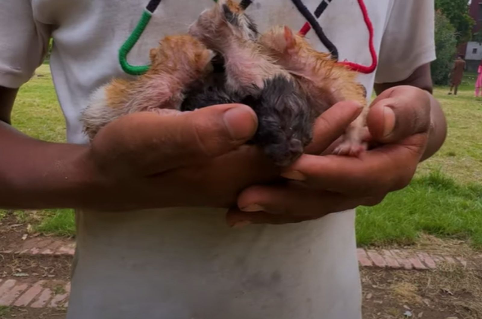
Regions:
[[[280,173],[261,152],[244,146],[257,125],[247,106],[132,114],[85,144],[80,111],[95,88],[129,77],[118,50],[133,44],[126,39],[144,7],[152,17],[143,18],[149,22],[129,53],[131,66],[146,64],[163,35],[185,32],[213,4],[143,2],[0,4],[0,207],[77,208],[67,318],[361,318],[353,208],[406,186],[445,138],[430,94],[433,1],[249,6],[261,31],[298,29],[307,20],[303,6],[318,6],[324,36],[310,31],[308,39],[359,69],[367,96],[374,86],[379,94],[368,116],[373,149],[360,158],[319,155],[360,112],[340,103],[317,120],[308,154],[281,172],[292,180],[281,184],[272,183]],[[17,88],[42,61],[50,36],[68,144],[31,139],[8,125]],[[228,207],[237,208],[227,223]]]

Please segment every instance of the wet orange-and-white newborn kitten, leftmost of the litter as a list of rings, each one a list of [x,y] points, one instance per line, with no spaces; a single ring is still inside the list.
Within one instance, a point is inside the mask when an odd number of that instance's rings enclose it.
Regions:
[[[151,66],[134,80],[114,79],[97,89],[81,114],[90,139],[107,123],[141,111],[180,109],[184,91],[212,71],[214,53],[188,35],[170,36],[150,51]]]

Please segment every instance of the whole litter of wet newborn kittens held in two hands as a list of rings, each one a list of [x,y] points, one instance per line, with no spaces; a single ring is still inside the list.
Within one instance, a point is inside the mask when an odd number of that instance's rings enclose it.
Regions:
[[[162,39],[150,52],[147,73],[111,80],[92,94],[81,115],[84,132],[93,139],[109,122],[134,112],[241,103],[258,117],[250,143],[276,165],[288,166],[311,142],[315,119],[337,102],[354,100],[363,111],[334,153],[362,152],[368,105],[357,72],[317,52],[288,27],[260,34],[244,9],[219,0],[187,34]]]

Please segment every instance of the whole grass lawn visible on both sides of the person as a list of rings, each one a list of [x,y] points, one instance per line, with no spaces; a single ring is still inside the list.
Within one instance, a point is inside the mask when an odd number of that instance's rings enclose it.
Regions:
[[[412,244],[421,233],[469,239],[482,248],[482,99],[473,97],[475,76],[467,74],[457,96],[439,87],[449,123],[445,145],[422,163],[410,186],[389,194],[376,207],[357,215],[359,245]],[[49,66],[42,65],[21,90],[13,125],[47,141],[65,141],[65,122],[52,86]],[[1,218],[0,212],[0,218]],[[15,212],[32,231],[73,235],[71,210]]]

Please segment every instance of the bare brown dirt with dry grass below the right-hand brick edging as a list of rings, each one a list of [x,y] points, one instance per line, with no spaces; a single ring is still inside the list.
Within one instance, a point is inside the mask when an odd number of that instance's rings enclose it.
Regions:
[[[482,318],[482,272],[362,269],[363,319]]]

